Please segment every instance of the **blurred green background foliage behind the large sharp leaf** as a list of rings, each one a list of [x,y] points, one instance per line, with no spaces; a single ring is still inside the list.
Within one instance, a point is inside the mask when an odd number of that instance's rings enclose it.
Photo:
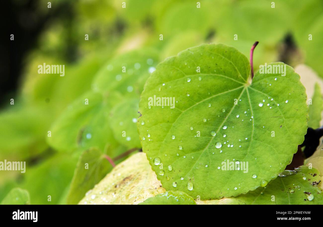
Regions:
[[[0,172],[0,201],[10,192],[22,194],[23,203],[78,203],[112,169],[102,157],[118,163],[140,149],[133,119],[146,79],[160,61],[188,47],[225,43],[248,56],[259,41],[255,69],[265,62],[304,63],[323,77],[321,0],[276,1],[275,8],[268,0],[200,0],[201,8],[191,0],[57,0],[52,8],[47,2],[33,8],[36,19],[47,19],[23,55],[18,90],[3,96],[0,160],[26,161],[27,169]],[[65,76],[38,74],[43,62],[65,64]],[[81,161],[98,167],[87,176]]]

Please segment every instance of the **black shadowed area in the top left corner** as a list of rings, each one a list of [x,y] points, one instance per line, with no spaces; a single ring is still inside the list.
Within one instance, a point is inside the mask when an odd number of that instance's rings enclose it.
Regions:
[[[55,7],[52,2],[48,14],[37,12],[41,4],[39,0],[6,0],[1,3],[7,16],[1,20],[1,27],[6,29],[0,42],[0,107],[8,105],[10,99],[16,97],[26,54],[37,47],[38,37],[46,25],[57,18],[72,19],[72,2],[59,2]],[[47,3],[43,7],[47,8]],[[14,41],[10,40],[11,34],[14,34]],[[76,47],[71,45],[66,55],[71,60],[75,52]]]

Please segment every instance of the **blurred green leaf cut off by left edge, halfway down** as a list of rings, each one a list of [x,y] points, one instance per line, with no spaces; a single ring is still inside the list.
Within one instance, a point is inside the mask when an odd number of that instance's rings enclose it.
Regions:
[[[19,105],[17,101],[14,106]],[[39,155],[48,147],[45,138],[49,111],[34,105],[14,106],[0,113],[0,130],[5,132],[0,137],[0,157],[24,159]]]

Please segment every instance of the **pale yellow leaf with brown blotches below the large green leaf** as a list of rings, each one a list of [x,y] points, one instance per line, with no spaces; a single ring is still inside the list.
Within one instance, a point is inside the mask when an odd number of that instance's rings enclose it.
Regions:
[[[139,152],[113,168],[79,204],[138,204],[163,192],[146,154]]]

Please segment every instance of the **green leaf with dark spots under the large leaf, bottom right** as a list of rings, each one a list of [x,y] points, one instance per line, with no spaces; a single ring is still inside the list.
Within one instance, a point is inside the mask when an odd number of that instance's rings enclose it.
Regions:
[[[258,188],[237,197],[214,201],[201,201],[201,204],[322,204],[323,191],[316,183],[320,181],[317,169],[301,166],[294,171],[284,171],[265,188]]]

